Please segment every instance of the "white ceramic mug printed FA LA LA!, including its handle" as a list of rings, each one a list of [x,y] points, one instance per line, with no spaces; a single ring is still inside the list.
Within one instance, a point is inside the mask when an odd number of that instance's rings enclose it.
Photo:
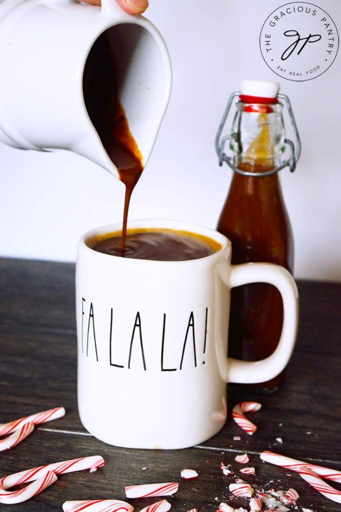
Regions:
[[[158,262],[97,252],[86,241],[120,224],[86,233],[78,245],[76,311],[78,407],[98,439],[133,448],[179,449],[215,435],[226,420],[226,382],[263,382],[286,366],[295,344],[298,300],[278,265],[231,265],[230,241],[179,221],[144,220],[129,228],[203,234],[221,245],[206,258]],[[266,282],[281,292],[283,330],[262,361],[227,357],[230,289]]]

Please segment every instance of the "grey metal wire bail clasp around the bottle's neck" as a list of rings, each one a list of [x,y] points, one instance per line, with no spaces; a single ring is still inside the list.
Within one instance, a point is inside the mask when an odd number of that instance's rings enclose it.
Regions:
[[[285,103],[285,105],[288,109],[291,126],[293,129],[294,135],[295,135],[296,145],[294,145],[292,140],[284,139],[284,143],[289,148],[289,152],[290,152],[289,158],[287,160],[285,160],[278,167],[275,167],[274,169],[267,170],[263,173],[252,173],[250,171],[238,169],[237,167],[235,167],[235,165],[233,165],[233,163],[232,163],[232,158],[226,155],[226,153],[224,152],[225,143],[227,140],[229,140],[231,138],[231,136],[224,135],[222,137],[221,135],[222,135],[222,132],[224,129],[224,125],[225,125],[228,113],[231,109],[232,102],[235,98],[239,98],[240,94],[241,94],[240,91],[236,91],[230,95],[230,97],[228,98],[228,101],[227,101],[227,105],[226,105],[222,120],[220,121],[220,124],[219,124],[218,132],[216,135],[216,141],[215,141],[216,152],[217,152],[217,155],[219,158],[219,165],[222,166],[223,162],[226,162],[227,165],[229,167],[231,167],[232,170],[235,171],[235,173],[242,174],[244,176],[253,176],[255,178],[256,177],[261,178],[263,176],[271,176],[272,174],[278,173],[280,170],[284,169],[284,167],[286,167],[286,166],[288,166],[290,168],[290,172],[293,173],[296,168],[296,163],[297,163],[297,161],[299,161],[299,158],[301,156],[301,139],[300,139],[299,131],[297,130],[297,125],[296,125],[295,117],[294,117],[294,114],[292,111],[290,100],[289,100],[288,96],[286,96],[285,94],[278,94],[277,97],[280,100],[283,100],[283,102]]]

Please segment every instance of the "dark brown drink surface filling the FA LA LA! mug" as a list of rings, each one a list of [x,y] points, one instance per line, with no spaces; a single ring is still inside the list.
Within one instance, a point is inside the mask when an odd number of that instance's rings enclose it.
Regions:
[[[121,233],[106,233],[87,241],[98,252],[122,256]],[[186,261],[205,258],[221,249],[208,237],[173,229],[129,229],[126,234],[125,258],[154,261]]]

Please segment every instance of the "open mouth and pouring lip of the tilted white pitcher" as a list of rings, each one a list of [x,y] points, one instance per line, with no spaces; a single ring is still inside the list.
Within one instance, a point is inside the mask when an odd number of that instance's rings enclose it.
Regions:
[[[119,163],[112,152],[116,139],[124,149],[134,144],[144,166],[168,103],[170,84],[167,51],[147,20],[104,30],[89,50],[82,80],[84,108],[95,134],[78,141],[74,151],[117,175]],[[120,133],[122,127],[124,133]]]

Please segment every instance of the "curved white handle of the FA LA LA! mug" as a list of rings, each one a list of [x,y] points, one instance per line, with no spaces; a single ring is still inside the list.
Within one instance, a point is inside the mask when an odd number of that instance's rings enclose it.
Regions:
[[[226,278],[224,281],[230,288],[248,283],[269,283],[282,295],[283,327],[275,351],[261,361],[227,358],[226,382],[266,382],[284,370],[295,346],[299,323],[299,295],[295,281],[288,270],[273,263],[232,265]]]

